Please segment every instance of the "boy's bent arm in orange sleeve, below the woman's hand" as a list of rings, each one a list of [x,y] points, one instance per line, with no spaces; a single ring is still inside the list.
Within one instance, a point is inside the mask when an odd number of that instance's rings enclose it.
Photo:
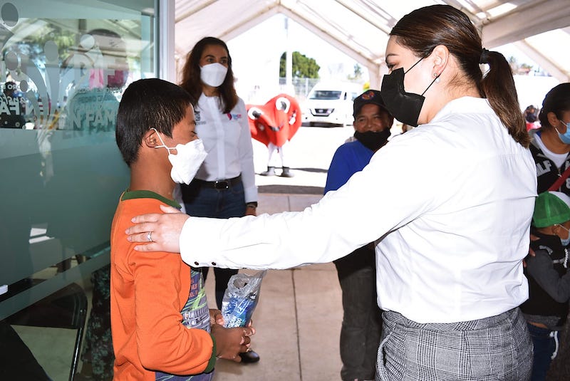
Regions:
[[[192,375],[213,367],[214,339],[181,323],[180,259],[164,252],[134,251],[135,324],[138,355],[148,369]],[[190,277],[190,271],[188,273]]]

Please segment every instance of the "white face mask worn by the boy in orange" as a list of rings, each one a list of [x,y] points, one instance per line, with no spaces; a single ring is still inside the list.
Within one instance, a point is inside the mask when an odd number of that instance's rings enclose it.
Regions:
[[[152,128],[152,130],[156,131],[162,143],[162,145],[157,145],[155,148],[165,147],[168,150],[168,160],[170,160],[172,164],[172,170],[170,171],[172,181],[177,184],[190,184],[196,172],[198,172],[200,165],[202,165],[202,162],[208,155],[206,150],[204,150],[202,140],[195,139],[191,142],[187,142],[185,145],[179,144],[176,145],[176,147],[167,147],[156,128]],[[170,150],[177,150],[177,155],[172,155]]]

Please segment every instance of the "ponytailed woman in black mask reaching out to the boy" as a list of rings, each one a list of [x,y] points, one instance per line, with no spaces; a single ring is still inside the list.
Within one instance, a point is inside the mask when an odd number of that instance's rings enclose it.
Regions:
[[[304,212],[139,216],[129,239],[152,231],[157,243],[140,250],[231,268],[328,262],[375,241],[385,311],[376,380],[527,380],[532,343],[518,306],[537,178],[509,65],[444,5],[400,19],[385,61],[386,107],[419,127],[336,192]]]

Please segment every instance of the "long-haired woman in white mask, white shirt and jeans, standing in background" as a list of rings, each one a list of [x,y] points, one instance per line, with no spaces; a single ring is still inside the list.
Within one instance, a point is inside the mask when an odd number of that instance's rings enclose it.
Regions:
[[[244,101],[234,88],[232,57],[226,43],[205,37],[188,53],[180,86],[192,96],[196,132],[208,152],[190,185],[182,184],[182,201],[191,216],[226,219],[255,215],[257,187],[253,162],[252,135]],[[202,268],[204,280],[208,268]],[[222,298],[229,278],[237,270],[214,268],[216,303]],[[253,351],[242,361],[256,362]]]

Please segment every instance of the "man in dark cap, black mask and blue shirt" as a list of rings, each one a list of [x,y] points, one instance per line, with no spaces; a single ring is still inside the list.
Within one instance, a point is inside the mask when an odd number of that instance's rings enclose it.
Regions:
[[[336,150],[326,177],[325,193],[345,184],[370,162],[390,137],[394,118],[380,91],[366,90],[354,100],[354,137]],[[382,317],[376,302],[373,244],[334,261],[341,283],[343,323],[341,360],[343,381],[374,380]]]

